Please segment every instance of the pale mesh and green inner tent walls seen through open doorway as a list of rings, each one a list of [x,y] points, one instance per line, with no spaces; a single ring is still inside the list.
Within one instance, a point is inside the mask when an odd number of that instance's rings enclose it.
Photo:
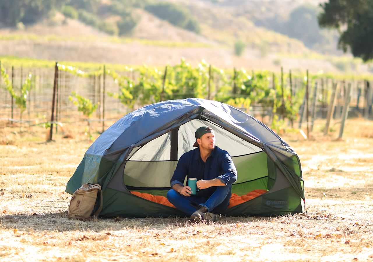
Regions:
[[[269,190],[273,186],[276,168],[262,149],[216,124],[195,119],[132,150],[123,174],[127,189],[166,196],[178,159],[194,149],[194,132],[200,126],[211,126],[216,145],[232,157],[238,174],[232,193],[241,196],[256,189]]]

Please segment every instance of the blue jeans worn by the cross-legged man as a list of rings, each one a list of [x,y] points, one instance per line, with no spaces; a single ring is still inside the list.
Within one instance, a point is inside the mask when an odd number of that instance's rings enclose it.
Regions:
[[[187,215],[192,215],[201,206],[207,208],[207,212],[221,214],[228,208],[231,198],[232,186],[217,186],[216,190],[210,197],[206,196],[183,196],[175,190],[171,189],[167,192],[167,199],[177,209]]]

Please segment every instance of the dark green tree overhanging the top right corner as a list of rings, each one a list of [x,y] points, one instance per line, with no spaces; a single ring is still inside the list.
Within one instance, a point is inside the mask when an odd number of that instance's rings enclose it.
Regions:
[[[338,29],[338,48],[365,62],[373,59],[373,0],[329,0],[320,6],[319,25]]]

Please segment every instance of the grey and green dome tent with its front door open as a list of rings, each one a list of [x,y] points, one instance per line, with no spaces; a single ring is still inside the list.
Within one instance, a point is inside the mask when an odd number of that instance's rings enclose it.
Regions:
[[[226,210],[225,215],[283,215],[304,212],[297,154],[278,135],[248,114],[217,101],[169,100],[139,108],[119,119],[88,148],[66,186],[102,186],[100,216],[184,216],[178,209],[130,191],[166,196],[178,159],[194,149],[194,132],[211,126],[216,145],[229,152],[238,179],[232,193],[267,192]]]

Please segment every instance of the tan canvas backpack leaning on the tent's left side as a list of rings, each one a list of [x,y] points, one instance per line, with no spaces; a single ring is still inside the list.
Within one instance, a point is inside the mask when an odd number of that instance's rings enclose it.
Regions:
[[[98,194],[100,196],[98,197]],[[98,203],[98,201],[100,201]],[[98,217],[102,210],[102,194],[99,184],[83,184],[73,193],[68,216],[79,220]]]

